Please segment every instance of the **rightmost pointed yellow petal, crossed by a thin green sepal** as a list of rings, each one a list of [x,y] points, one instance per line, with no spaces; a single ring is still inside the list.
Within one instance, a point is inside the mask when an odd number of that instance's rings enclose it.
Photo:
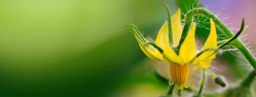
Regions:
[[[210,34],[206,40],[206,42],[204,43],[204,46],[202,48],[201,51],[206,50],[207,48],[217,48],[217,34],[216,34],[216,28],[215,28],[215,24],[212,21],[212,19],[210,20],[211,22],[211,31]],[[215,58],[215,54],[217,52],[210,50],[210,51],[206,51],[203,54],[201,54],[199,56],[199,60],[212,60],[213,58]]]

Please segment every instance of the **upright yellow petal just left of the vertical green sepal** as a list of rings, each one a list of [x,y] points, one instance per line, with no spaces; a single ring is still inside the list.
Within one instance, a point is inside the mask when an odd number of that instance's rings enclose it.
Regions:
[[[168,40],[164,40],[168,39]],[[157,39],[156,39],[156,44],[160,48],[164,48],[164,43],[163,41],[169,41],[169,27],[168,27],[168,22],[165,21],[161,29],[158,31],[157,34]]]

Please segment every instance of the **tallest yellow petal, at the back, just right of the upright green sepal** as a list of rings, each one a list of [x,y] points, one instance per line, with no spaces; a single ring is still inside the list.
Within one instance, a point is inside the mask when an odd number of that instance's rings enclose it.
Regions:
[[[180,37],[182,34],[182,26],[180,23],[180,8],[177,10],[175,14],[171,17],[171,24],[172,24],[172,40],[173,45],[178,46]]]

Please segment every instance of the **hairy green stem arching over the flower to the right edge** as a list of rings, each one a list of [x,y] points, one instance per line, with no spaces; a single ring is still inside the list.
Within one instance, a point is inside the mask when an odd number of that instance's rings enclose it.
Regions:
[[[183,43],[183,41],[185,40],[189,29],[192,25],[193,22],[193,17],[196,15],[202,15],[205,16],[207,18],[211,18],[213,20],[213,22],[224,32],[224,34],[230,39],[234,36],[234,34],[228,29],[228,27],[221,22],[220,19],[218,19],[218,17],[215,16],[215,14],[212,14],[211,11],[208,11],[207,9],[204,8],[195,8],[195,9],[191,9],[190,11],[187,12],[186,16],[185,16],[185,24],[183,27],[183,31],[182,31],[182,37],[180,38],[180,42],[179,45],[177,46],[177,51],[176,53],[179,54],[179,49],[181,44]],[[256,70],[256,59],[253,56],[253,54],[250,52],[250,50],[239,40],[239,39],[234,39],[230,45],[235,46],[236,48],[239,49],[239,51],[241,51],[241,53],[245,56],[245,58],[248,60],[248,62],[253,66],[253,68]]]

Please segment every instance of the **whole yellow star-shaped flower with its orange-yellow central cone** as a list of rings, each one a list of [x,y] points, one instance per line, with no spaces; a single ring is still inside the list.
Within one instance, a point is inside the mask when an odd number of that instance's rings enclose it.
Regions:
[[[210,61],[215,58],[215,51],[205,51],[199,57],[196,57],[196,43],[195,43],[195,29],[196,25],[193,24],[188,35],[180,46],[179,54],[177,54],[172,48],[178,46],[180,37],[182,34],[182,26],[180,23],[180,9],[177,10],[175,14],[171,17],[171,27],[172,27],[172,39],[173,44],[169,44],[169,25],[166,21],[158,32],[155,44],[163,49],[163,54],[160,53],[154,46],[145,46],[145,42],[149,41],[144,37],[135,34],[135,37],[140,45],[142,51],[153,60],[163,60],[170,64],[170,75],[172,77],[173,83],[177,83],[176,88],[183,90],[183,88],[188,88],[186,83],[189,78],[190,64],[197,65],[192,71],[199,70],[201,68],[209,67]],[[217,35],[215,24],[211,21],[211,31],[209,37],[204,44],[202,51],[207,48],[217,48]],[[143,42],[144,41],[144,42]],[[169,83],[170,84],[170,83]],[[172,85],[170,84],[170,85]]]

